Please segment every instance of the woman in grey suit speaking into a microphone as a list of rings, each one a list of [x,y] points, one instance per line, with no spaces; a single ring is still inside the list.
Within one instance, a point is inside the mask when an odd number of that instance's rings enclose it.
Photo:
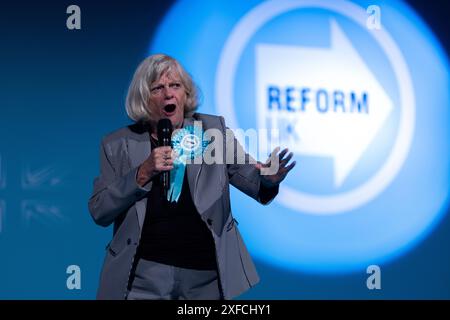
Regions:
[[[103,139],[89,199],[97,224],[114,223],[98,299],[231,299],[259,281],[231,214],[229,184],[267,204],[295,165],[288,165],[292,153],[279,153],[271,175],[261,174],[269,162],[179,165],[180,155],[158,144],[160,119],[170,119],[174,134],[194,122],[227,132],[223,117],[195,113],[197,107],[196,86],[175,59],[157,54],[139,65],[126,100],[135,123]],[[237,151],[224,152],[236,160],[242,149],[233,142]],[[169,199],[161,192],[163,172],[179,184]]]

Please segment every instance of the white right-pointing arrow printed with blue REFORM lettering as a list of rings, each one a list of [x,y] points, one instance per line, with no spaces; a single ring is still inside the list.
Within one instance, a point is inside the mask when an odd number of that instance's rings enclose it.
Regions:
[[[332,158],[341,186],[392,111],[343,31],[332,22],[329,49],[261,44],[256,69],[259,127],[297,154]]]

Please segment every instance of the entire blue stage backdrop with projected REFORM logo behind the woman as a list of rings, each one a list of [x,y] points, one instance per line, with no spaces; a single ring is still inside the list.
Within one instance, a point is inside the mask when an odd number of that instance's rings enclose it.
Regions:
[[[128,84],[159,52],[259,160],[295,153],[269,206],[232,190],[261,276],[240,298],[450,298],[449,12],[424,3],[4,5],[0,299],[95,297],[99,143],[131,123]]]

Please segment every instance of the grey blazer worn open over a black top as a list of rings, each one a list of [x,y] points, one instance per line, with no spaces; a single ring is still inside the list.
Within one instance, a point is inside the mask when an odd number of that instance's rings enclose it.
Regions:
[[[196,113],[184,120],[184,126],[194,120],[202,121],[204,130],[216,128],[225,133],[223,117]],[[237,141],[236,145],[235,156],[238,149],[242,151]],[[97,299],[126,299],[146,194],[152,188],[152,182],[140,187],[136,174],[150,151],[148,132],[140,124],[115,131],[102,141],[100,176],[94,180],[88,206],[95,223],[105,227],[114,223],[114,230],[106,247]],[[263,204],[276,196],[278,188],[268,194],[260,192],[260,175],[252,164],[188,164],[186,172],[193,202],[214,239],[224,298],[231,299],[258,283],[259,277],[231,214],[229,184]]]

